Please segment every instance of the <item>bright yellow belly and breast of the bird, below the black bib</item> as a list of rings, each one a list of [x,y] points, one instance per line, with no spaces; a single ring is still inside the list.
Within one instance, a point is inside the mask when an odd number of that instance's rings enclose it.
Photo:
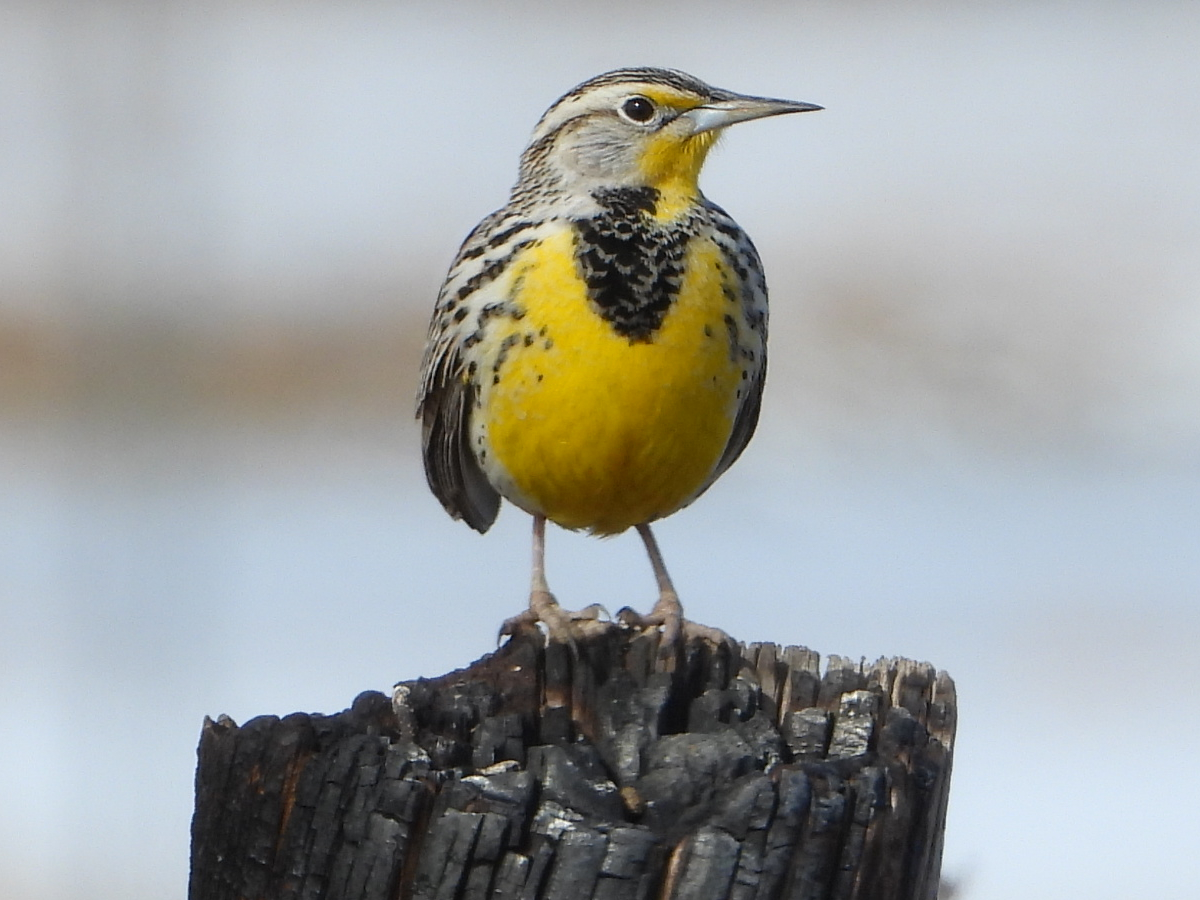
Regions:
[[[630,342],[589,307],[571,241],[564,230],[506,274],[524,314],[488,329],[482,462],[527,511],[614,534],[674,512],[716,467],[742,379],[726,319],[740,310],[720,252],[694,239],[661,328]]]

